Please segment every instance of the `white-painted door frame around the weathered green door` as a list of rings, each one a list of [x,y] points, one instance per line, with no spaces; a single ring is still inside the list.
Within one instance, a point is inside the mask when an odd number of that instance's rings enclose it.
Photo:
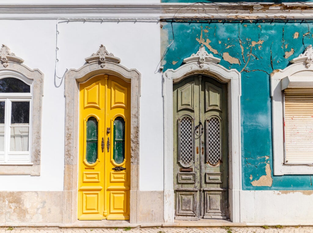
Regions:
[[[173,83],[195,74],[203,74],[228,85],[228,146],[229,146],[229,216],[233,222],[240,222],[241,190],[241,120],[240,96],[241,74],[235,69],[226,69],[214,62],[197,61],[184,64],[176,70],[163,73],[164,111],[164,222],[174,222],[173,189]]]

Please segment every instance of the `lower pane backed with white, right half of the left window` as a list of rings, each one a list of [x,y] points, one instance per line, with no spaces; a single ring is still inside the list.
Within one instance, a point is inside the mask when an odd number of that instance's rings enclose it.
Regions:
[[[10,128],[10,151],[28,151],[29,126],[25,126],[25,124],[15,124]]]

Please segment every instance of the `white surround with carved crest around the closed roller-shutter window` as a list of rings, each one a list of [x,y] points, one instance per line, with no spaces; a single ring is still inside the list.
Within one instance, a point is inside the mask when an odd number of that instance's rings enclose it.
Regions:
[[[308,46],[303,54],[290,61],[283,70],[271,73],[272,132],[274,175],[313,174],[312,164],[285,163],[284,94],[287,88],[313,88],[313,49]]]

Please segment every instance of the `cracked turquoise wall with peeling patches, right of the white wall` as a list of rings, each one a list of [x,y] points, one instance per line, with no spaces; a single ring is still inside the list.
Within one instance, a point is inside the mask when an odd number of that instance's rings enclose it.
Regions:
[[[273,175],[270,73],[284,69],[313,43],[312,22],[161,22],[163,71],[176,69],[183,58],[196,53],[200,44],[220,64],[241,73],[242,184],[244,190],[313,190],[310,175]],[[173,29],[173,30],[172,30]],[[173,41],[174,33],[174,41]],[[173,42],[173,43],[172,43]],[[172,45],[167,47],[170,43]],[[164,54],[162,52],[162,54]],[[223,58],[224,57],[224,58]],[[266,175],[271,186],[253,186]]]

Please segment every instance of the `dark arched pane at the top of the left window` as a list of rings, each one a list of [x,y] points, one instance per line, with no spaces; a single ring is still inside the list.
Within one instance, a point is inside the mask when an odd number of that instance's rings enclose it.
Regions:
[[[30,86],[15,78],[0,79],[0,93],[30,93]]]

